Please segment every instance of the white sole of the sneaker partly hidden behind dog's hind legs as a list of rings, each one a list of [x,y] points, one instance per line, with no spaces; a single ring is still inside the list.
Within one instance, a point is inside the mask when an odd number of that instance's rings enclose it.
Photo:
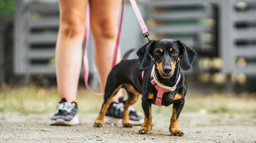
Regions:
[[[110,124],[123,125],[123,119],[121,119],[121,118],[114,118],[114,117],[111,117],[111,116],[105,116],[104,121],[107,122],[107,123],[110,123]],[[132,125],[139,126],[139,125],[142,125],[144,123],[144,119],[141,119],[139,121],[130,120],[130,123]]]

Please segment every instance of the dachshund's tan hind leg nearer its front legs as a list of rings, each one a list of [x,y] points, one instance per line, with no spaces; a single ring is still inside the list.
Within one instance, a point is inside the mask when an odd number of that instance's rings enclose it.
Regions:
[[[129,106],[134,104],[139,96],[139,92],[137,92],[131,84],[124,84],[124,88],[128,93],[128,99],[124,104],[124,111],[123,111],[123,126],[127,128],[131,128],[132,124],[129,120]]]

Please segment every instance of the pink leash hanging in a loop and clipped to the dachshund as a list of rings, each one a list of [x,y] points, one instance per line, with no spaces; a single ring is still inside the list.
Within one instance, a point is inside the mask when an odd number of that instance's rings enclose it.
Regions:
[[[138,19],[138,22],[140,24],[141,30],[143,32],[144,37],[147,37],[148,40],[149,38],[149,32],[146,27],[146,24],[142,18],[141,12],[137,6],[137,3],[135,0],[130,0],[132,8],[134,10],[134,13]],[[116,44],[115,44],[115,51],[114,51],[114,56],[113,56],[113,62],[112,62],[112,68],[116,64],[116,58],[117,58],[117,52],[118,52],[118,47],[120,43],[120,36],[121,36],[121,30],[122,30],[122,23],[123,23],[123,17],[124,17],[124,5],[125,5],[125,0],[123,0],[123,5],[122,5],[122,12],[121,12],[121,18],[120,18],[120,23],[119,23],[119,30],[118,30],[118,35],[116,39]],[[89,32],[90,32],[90,14],[89,14],[89,0],[87,1],[87,7],[86,7],[86,18],[85,18],[85,36],[84,36],[84,41],[85,41],[85,50],[84,50],[84,55],[83,55],[83,76],[84,76],[84,82],[86,88],[90,92],[92,92],[95,95],[104,95],[104,92],[102,93],[96,93],[92,91],[92,89],[88,85],[88,76],[89,76],[89,67],[88,67],[88,56],[87,56],[87,46],[88,46],[88,39],[89,39]]]

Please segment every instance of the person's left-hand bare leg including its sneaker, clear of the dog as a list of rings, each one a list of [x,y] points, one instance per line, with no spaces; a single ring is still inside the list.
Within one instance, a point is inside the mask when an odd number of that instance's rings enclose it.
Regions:
[[[60,26],[56,42],[56,78],[61,101],[57,104],[50,125],[79,123],[77,94],[82,64],[82,44],[86,11],[85,0],[59,0]],[[72,102],[72,103],[71,103]]]

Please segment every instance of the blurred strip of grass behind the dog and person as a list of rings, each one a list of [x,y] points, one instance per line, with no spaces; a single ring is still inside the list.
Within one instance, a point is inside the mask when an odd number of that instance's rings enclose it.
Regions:
[[[126,96],[125,96],[126,97]],[[0,112],[54,112],[59,96],[56,87],[41,88],[35,84],[25,87],[10,87],[2,84],[0,88]],[[86,88],[80,87],[77,94],[79,112],[99,112],[103,96],[96,96]],[[200,112],[201,109],[210,113],[256,113],[255,95],[243,93],[213,93],[209,95],[186,95],[182,112]],[[141,96],[132,105],[137,111],[141,108]],[[168,107],[152,106],[153,113],[170,113]]]

